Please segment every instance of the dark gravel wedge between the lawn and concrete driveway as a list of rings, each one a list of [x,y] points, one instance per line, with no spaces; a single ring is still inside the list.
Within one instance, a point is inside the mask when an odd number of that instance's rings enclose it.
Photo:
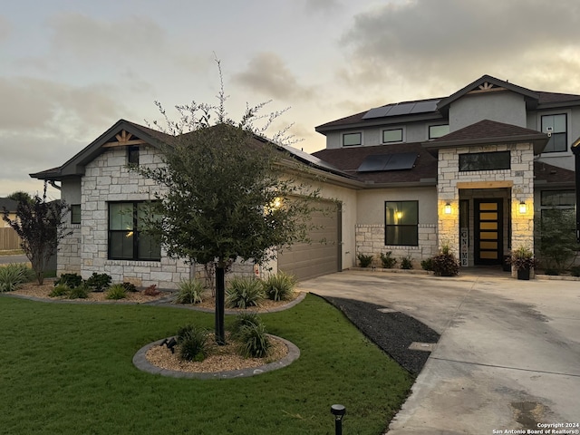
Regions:
[[[439,341],[439,333],[409,315],[378,311],[387,308],[385,306],[340,297],[321,297],[341,310],[364,335],[413,374],[421,371],[430,353],[410,350],[411,343]]]

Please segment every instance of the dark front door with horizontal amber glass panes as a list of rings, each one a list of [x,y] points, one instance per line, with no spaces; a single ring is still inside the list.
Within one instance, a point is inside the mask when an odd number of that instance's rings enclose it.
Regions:
[[[476,265],[501,265],[503,260],[503,200],[474,199]]]

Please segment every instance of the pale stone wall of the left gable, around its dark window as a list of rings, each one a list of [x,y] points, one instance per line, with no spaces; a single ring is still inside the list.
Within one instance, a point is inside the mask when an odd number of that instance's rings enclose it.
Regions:
[[[128,281],[135,285],[158,285],[176,288],[188,279],[190,267],[161,252],[160,261],[110,260],[107,258],[108,202],[154,199],[158,186],[125,167],[127,150],[112,148],[92,160],[82,177],[81,201],[81,275],[93,272],[111,275],[112,281]],[[159,167],[160,154],[149,146],[140,147],[140,164]]]

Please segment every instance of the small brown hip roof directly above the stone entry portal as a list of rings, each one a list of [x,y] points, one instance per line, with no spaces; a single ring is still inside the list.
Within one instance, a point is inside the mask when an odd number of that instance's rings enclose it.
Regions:
[[[540,154],[549,140],[546,133],[517,127],[498,121],[483,120],[453,131],[438,139],[423,142],[426,149],[440,149],[465,145],[532,142],[535,154]]]

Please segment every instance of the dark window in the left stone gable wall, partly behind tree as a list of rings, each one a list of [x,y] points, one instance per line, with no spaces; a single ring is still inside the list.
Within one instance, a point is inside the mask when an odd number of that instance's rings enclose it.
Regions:
[[[141,231],[146,222],[157,218],[148,202],[109,203],[109,258],[159,261],[159,238]]]

